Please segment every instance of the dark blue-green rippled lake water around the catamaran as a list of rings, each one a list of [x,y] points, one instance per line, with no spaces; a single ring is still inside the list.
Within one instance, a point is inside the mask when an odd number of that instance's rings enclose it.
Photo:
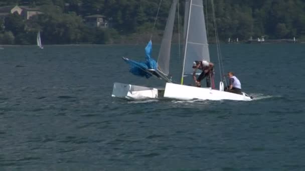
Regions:
[[[305,170],[304,44],[222,45],[254,101],[112,98],[143,48],[0,50],[0,170]]]

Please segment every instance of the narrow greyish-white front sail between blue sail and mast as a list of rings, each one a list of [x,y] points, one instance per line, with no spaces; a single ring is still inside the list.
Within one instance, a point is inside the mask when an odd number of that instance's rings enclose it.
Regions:
[[[175,22],[177,1],[178,0],[173,0],[169,17],[163,33],[163,38],[158,57],[158,70],[165,75],[168,75],[170,72],[171,45],[172,45],[172,35],[173,35],[173,28]]]

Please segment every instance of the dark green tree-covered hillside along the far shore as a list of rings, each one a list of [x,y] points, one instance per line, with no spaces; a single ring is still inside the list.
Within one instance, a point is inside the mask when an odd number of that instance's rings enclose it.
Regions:
[[[183,24],[185,0],[179,1]],[[162,1],[156,31],[164,29],[171,2]],[[211,0],[203,2],[207,4],[209,37],[212,38]],[[3,25],[0,39],[5,40],[2,43],[35,43],[36,32],[41,30],[46,43],[121,42],[132,33],[136,33],[132,36],[140,36],[151,31],[159,3],[160,0],[0,0],[0,6],[39,6],[44,12],[29,20],[10,14],[4,24],[0,23]],[[305,0],[214,0],[214,3],[221,40],[228,37],[246,40],[250,36],[305,38]],[[104,15],[112,28],[86,26],[84,16],[93,14]],[[159,31],[157,35],[162,34]]]

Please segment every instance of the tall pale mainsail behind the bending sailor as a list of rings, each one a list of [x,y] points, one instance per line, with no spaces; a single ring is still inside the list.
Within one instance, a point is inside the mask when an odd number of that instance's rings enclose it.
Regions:
[[[183,73],[193,72],[194,60],[210,61],[209,46],[202,0],[190,0],[184,48]]]

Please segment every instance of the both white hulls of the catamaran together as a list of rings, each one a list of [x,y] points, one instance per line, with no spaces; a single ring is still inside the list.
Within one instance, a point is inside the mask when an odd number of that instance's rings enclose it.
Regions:
[[[164,89],[114,82],[111,96],[131,100],[156,99],[163,97],[179,100],[252,100],[251,97],[244,92],[243,95],[241,95],[217,89],[201,88],[169,82],[166,83],[164,93],[163,90]]]

